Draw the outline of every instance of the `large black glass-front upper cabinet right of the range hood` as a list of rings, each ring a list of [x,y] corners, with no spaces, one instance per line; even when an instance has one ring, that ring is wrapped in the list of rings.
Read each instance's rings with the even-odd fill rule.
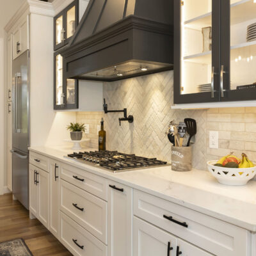
[[[256,1],[174,0],[174,103],[256,100]]]

